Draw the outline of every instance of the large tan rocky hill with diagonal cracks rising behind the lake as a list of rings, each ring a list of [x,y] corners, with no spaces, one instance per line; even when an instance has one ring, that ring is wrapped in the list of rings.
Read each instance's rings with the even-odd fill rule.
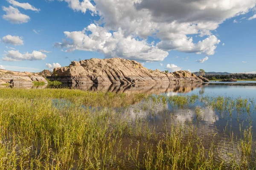
[[[67,67],[55,68],[50,80],[63,83],[177,83],[177,82],[203,82],[202,79],[189,71],[175,71],[165,73],[160,70],[150,70],[139,62],[121,59],[86,59],[73,61]]]

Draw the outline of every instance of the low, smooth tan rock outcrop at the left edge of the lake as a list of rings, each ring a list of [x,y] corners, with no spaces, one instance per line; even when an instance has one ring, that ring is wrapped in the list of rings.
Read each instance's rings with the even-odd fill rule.
[[[0,85],[10,84],[13,86],[29,86],[33,85],[34,81],[45,82],[45,84],[47,84],[47,80],[44,79],[44,77],[35,73],[0,69]]]

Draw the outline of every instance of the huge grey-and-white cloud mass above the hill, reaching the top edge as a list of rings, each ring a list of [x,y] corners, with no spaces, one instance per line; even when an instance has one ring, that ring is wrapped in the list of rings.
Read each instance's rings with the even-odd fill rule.
[[[100,51],[106,57],[143,61],[161,61],[167,54],[164,52],[171,50],[215,54],[220,40],[211,31],[227,19],[247,13],[256,3],[255,0],[243,3],[241,0],[215,0],[214,3],[209,0],[60,1],[67,2],[74,11],[85,13],[89,10],[92,14],[98,14],[100,20],[96,23],[104,25],[104,28],[98,27],[93,33],[88,27],[83,31],[65,31],[64,34],[72,42],[57,42],[55,47],[67,48],[66,51]],[[207,37],[193,42],[192,35]],[[147,42],[148,37],[159,39],[160,42],[152,46]],[[133,45],[138,45],[140,50],[132,48]],[[140,52],[139,57],[134,56]],[[148,54],[155,55],[157,59],[146,57]]]

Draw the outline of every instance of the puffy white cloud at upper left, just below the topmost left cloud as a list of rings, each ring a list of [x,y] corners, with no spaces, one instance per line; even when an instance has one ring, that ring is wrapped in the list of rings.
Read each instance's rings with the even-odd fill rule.
[[[25,14],[21,14],[17,8],[14,8],[12,6],[9,6],[9,7],[3,6],[2,8],[3,8],[3,11],[6,12],[6,15],[2,16],[4,20],[7,20],[14,24],[27,23],[30,20],[29,16]]]

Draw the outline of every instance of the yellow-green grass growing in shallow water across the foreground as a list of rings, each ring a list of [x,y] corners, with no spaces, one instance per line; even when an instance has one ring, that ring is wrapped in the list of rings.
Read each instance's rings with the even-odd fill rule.
[[[255,110],[224,96],[1,89],[0,169],[254,169]]]

